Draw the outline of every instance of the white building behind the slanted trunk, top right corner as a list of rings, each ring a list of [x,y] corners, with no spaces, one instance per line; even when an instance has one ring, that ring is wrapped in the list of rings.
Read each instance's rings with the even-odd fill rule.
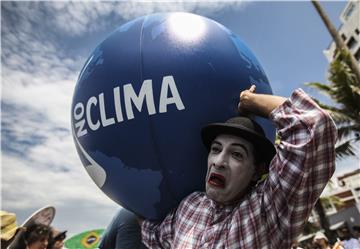
[[[340,15],[342,25],[338,33],[345,45],[360,64],[360,1],[349,1]],[[324,54],[329,62],[335,57],[335,42],[331,42]]]

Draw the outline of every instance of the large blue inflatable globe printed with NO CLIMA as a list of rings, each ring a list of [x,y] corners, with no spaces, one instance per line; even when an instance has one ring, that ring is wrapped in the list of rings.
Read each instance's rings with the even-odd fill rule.
[[[271,94],[249,48],[189,13],[124,24],[91,54],[76,84],[72,131],[80,159],[121,206],[161,219],[205,187],[201,127],[238,115],[240,91]],[[274,140],[274,128],[258,119]]]

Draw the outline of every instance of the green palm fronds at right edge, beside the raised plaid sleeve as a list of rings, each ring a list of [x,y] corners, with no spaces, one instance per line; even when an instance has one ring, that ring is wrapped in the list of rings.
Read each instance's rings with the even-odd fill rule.
[[[360,141],[360,82],[350,69],[350,57],[341,50],[330,64],[328,79],[330,84],[307,83],[328,95],[336,106],[329,106],[315,100],[333,117],[338,127],[336,157],[356,156],[355,143]]]

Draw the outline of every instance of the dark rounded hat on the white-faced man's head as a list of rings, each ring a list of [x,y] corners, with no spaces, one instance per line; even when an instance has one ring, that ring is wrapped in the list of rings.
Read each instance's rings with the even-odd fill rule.
[[[266,138],[264,130],[254,120],[244,116],[233,117],[225,123],[212,123],[204,126],[201,130],[201,138],[205,147],[210,150],[212,141],[219,134],[229,134],[244,138],[254,145],[254,149],[261,155],[266,163],[266,170],[275,156],[275,147]]]

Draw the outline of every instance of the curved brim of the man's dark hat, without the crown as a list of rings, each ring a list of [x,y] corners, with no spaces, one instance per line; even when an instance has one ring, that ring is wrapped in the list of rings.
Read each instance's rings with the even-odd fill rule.
[[[258,155],[261,155],[266,163],[266,170],[269,170],[269,164],[276,154],[276,150],[272,142],[265,136],[260,136],[252,130],[231,123],[213,123],[205,126],[201,130],[201,138],[205,147],[210,150],[211,143],[220,134],[229,134],[244,138],[254,145]]]

